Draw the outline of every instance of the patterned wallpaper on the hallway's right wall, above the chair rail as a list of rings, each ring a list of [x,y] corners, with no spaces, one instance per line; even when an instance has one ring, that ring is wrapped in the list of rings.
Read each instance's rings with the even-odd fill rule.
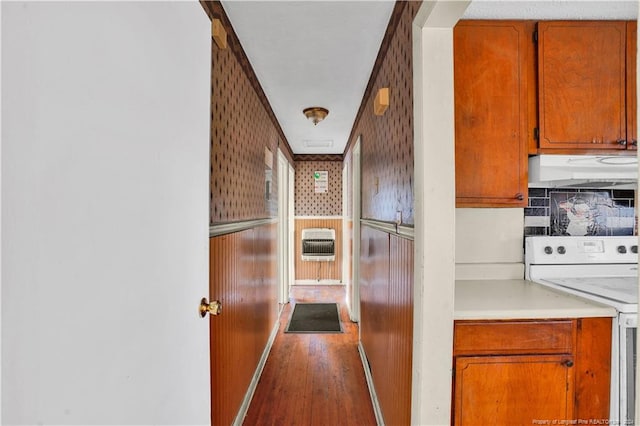
[[[362,140],[362,217],[413,224],[413,63],[412,22],[421,3],[409,1],[402,11],[386,56],[350,143]],[[373,114],[378,89],[389,87],[390,106]],[[345,156],[347,158],[347,156]]]

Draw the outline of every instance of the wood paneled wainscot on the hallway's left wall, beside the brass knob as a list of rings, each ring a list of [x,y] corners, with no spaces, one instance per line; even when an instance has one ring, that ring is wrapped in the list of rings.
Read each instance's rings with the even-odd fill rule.
[[[278,320],[276,224],[209,239],[211,421],[230,425]]]

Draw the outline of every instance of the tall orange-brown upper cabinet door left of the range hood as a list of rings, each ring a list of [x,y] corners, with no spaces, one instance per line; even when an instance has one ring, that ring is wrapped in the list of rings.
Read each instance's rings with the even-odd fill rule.
[[[532,33],[525,21],[454,29],[458,207],[526,205]]]

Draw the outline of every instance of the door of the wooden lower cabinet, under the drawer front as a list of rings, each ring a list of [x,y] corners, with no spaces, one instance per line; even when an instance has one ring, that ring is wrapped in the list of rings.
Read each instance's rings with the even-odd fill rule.
[[[456,426],[574,418],[570,355],[458,357],[455,368]]]

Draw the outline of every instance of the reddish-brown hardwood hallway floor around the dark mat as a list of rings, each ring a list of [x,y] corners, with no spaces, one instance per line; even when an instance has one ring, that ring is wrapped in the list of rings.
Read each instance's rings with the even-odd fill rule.
[[[344,286],[293,286],[244,425],[375,425]],[[344,333],[284,333],[296,302],[337,302]]]

